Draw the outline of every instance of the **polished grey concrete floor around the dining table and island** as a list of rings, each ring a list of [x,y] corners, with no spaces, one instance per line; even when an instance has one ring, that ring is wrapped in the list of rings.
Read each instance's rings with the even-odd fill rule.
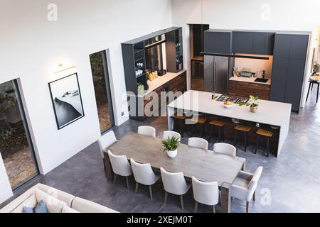
[[[257,201],[250,203],[251,212],[320,212],[320,103],[315,104],[315,92],[311,94],[300,114],[292,114],[290,130],[279,158],[265,157],[242,150],[237,155],[247,159],[247,171],[253,172],[262,165],[264,170],[257,187]],[[277,114],[275,111],[274,114]],[[161,137],[166,130],[166,118],[150,118],[145,122],[129,120],[115,127],[117,138],[130,131],[137,131],[140,125],[156,128]],[[182,142],[186,143],[187,138]],[[210,143],[210,148],[212,147]],[[161,184],[154,187],[154,199],[149,199],[147,187],[140,187],[134,194],[134,179],[130,178],[130,189],[124,179],[116,184],[105,178],[102,157],[97,143],[93,143],[71,157],[45,176],[37,177],[16,191],[16,195],[31,185],[43,182],[75,196],[95,201],[121,212],[192,212],[191,191],[185,196],[185,209],[181,210],[178,196],[169,196],[163,206],[164,192]],[[200,205],[199,212],[211,212],[209,206]],[[217,207],[220,211],[220,207]],[[232,200],[233,212],[245,212],[245,201]]]

